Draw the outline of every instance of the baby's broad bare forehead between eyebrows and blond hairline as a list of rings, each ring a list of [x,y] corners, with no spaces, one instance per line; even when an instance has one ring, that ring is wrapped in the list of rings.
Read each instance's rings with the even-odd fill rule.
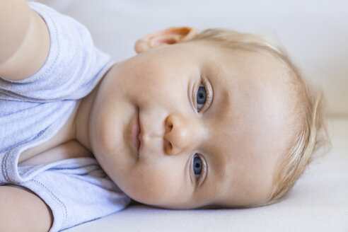
[[[220,182],[215,202],[255,204],[269,195],[288,146],[286,69],[265,54],[238,50],[220,50],[204,67],[214,88],[208,117],[216,146],[207,150]]]

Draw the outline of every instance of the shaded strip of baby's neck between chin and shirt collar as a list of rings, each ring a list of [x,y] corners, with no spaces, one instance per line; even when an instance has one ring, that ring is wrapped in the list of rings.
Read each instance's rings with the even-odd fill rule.
[[[91,152],[92,148],[89,141],[89,118],[100,83],[101,81],[97,86],[95,86],[91,93],[86,95],[86,97],[81,100],[79,108],[76,112],[76,117],[74,119],[75,140],[79,141],[81,145],[83,145],[86,149],[88,149],[88,151]]]

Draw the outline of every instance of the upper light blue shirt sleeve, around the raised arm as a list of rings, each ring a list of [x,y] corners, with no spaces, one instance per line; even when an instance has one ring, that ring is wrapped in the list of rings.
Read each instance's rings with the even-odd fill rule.
[[[32,76],[18,81],[0,79],[0,100],[50,102],[76,100],[88,95],[110,69],[110,56],[98,50],[88,29],[49,6],[29,2],[45,21],[50,52]]]

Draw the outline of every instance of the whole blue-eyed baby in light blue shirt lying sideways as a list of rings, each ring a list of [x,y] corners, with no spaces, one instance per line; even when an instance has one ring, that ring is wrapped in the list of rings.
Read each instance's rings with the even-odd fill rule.
[[[59,231],[130,199],[272,204],[325,139],[322,92],[260,35],[168,28],[115,64],[23,0],[1,1],[0,33],[0,231]]]

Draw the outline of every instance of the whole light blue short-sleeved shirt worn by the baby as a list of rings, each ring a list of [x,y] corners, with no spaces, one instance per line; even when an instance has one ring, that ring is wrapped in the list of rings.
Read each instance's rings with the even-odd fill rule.
[[[94,158],[39,166],[18,166],[18,158],[57,134],[76,100],[91,93],[113,62],[81,23],[43,4],[29,5],[47,24],[50,53],[33,76],[0,78],[0,185],[35,192],[52,210],[50,231],[60,231],[120,211],[130,199]]]

